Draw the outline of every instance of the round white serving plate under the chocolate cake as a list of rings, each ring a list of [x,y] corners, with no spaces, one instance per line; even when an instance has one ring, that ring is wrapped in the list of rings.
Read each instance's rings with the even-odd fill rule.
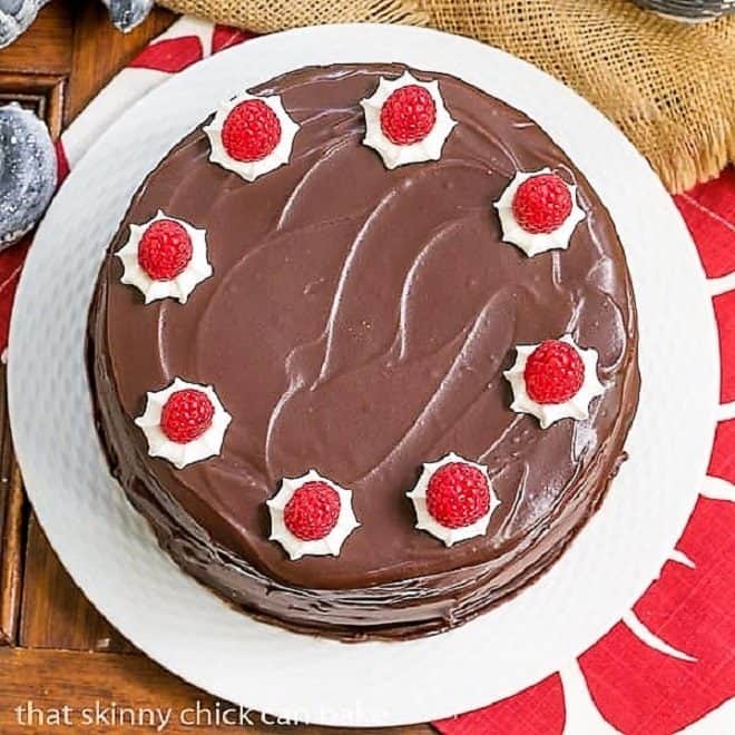
[[[527,111],[600,194],[640,313],[640,408],[600,512],[535,585],[464,627],[340,644],[231,609],[182,574],[110,478],[84,362],[105,248],[144,176],[228,95],[297,67],[403,61]],[[689,354],[687,354],[687,352]],[[74,169],[43,220],[13,311],[16,451],[46,533],[95,606],[165,667],[210,693],[326,725],[398,725],[488,705],[604,635],[658,575],[694,507],[715,428],[718,361],[695,247],[646,161],[570,89],[497,49],[431,30],[327,26],[247,41],[146,96]]]

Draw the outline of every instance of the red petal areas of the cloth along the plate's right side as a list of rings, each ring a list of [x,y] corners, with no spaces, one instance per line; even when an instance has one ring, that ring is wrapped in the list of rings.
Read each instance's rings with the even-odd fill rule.
[[[712,278],[721,398],[729,409],[735,401],[735,283],[728,278],[735,273],[735,169],[674,200]],[[733,418],[717,427],[709,478],[676,547],[684,557],[667,561],[634,606],[635,617],[665,645],[649,645],[620,621],[578,658],[592,703],[621,733],[676,733],[735,696],[735,411],[726,415]],[[551,735],[565,729],[564,702],[561,683],[550,677],[434,724],[447,735]]]

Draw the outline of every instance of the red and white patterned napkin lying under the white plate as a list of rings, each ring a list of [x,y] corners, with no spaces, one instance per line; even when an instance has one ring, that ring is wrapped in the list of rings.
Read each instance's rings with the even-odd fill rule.
[[[177,21],[63,133],[60,179],[131,102],[249,36],[190,18]],[[709,280],[722,353],[719,424],[694,513],[658,579],[607,635],[523,692],[434,723],[441,733],[735,733],[735,169],[675,203]],[[29,242],[0,255],[0,349]]]

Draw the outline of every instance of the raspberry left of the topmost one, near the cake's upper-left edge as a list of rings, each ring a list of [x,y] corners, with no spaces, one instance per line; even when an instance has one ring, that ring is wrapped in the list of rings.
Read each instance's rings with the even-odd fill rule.
[[[222,144],[236,160],[262,160],[278,145],[281,122],[261,99],[241,102],[222,126]]]

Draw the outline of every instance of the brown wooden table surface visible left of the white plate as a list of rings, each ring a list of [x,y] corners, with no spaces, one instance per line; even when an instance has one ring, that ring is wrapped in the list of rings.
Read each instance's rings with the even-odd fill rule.
[[[145,23],[122,36],[109,23],[100,2],[53,0],[20,40],[0,51],[0,98],[35,107],[58,136],[105,82],[174,19],[171,13],[156,10]],[[136,651],[91,607],[61,567],[23,493],[4,408],[4,382],[3,371],[0,374],[0,733],[155,732],[145,725],[114,725],[110,712],[97,718],[94,709],[90,716],[96,724],[87,724],[82,709],[94,708],[96,703],[100,708],[117,703],[116,712],[122,716],[127,715],[121,707],[171,708],[171,724],[165,733],[226,729],[187,727],[177,722],[197,700],[213,713],[217,703]],[[29,709],[29,703],[33,709]],[[57,727],[57,718],[63,723],[65,706],[70,707],[67,722],[74,724]],[[264,726],[256,713],[251,713],[251,719],[255,726],[249,732],[254,733],[336,732],[305,726],[286,728],[277,724]],[[206,724],[206,715],[202,722]],[[380,732],[418,735],[433,731],[421,725]]]

